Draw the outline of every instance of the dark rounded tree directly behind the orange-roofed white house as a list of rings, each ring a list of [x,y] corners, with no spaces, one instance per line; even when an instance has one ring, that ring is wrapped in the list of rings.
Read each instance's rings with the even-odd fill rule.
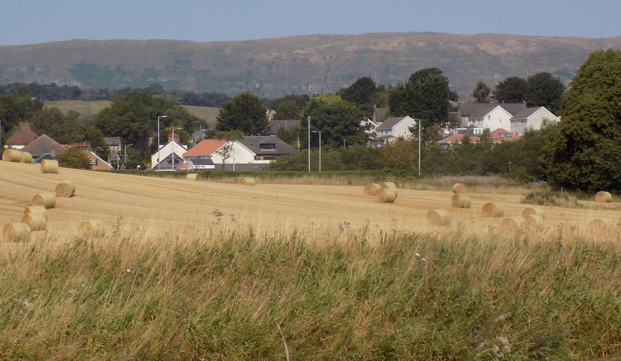
[[[270,123],[267,108],[258,96],[243,92],[227,100],[215,119],[215,129],[219,131],[239,130],[246,135],[264,135]]]

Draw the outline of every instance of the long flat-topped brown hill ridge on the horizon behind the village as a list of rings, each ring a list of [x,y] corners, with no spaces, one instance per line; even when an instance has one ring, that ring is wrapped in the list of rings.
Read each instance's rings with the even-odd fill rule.
[[[621,37],[533,37],[432,32],[302,35],[198,43],[187,40],[68,40],[0,46],[0,83],[98,88],[144,87],[265,97],[333,92],[360,76],[380,84],[435,66],[462,99],[482,79],[541,71],[573,78],[594,50],[621,49]]]

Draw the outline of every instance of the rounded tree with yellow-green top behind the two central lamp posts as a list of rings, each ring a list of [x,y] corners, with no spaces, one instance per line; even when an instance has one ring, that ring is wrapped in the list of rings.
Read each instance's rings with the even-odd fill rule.
[[[368,134],[360,128],[363,118],[360,108],[340,96],[325,94],[314,96],[304,110],[304,118],[311,117],[311,131],[321,132],[322,145],[338,148],[342,145],[366,144]],[[308,123],[301,122],[300,143],[302,148],[308,146]],[[317,135],[312,135],[313,144],[317,144]]]

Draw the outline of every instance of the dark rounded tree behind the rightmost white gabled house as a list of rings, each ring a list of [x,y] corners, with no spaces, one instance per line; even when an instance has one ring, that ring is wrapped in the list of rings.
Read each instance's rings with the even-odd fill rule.
[[[550,73],[537,73],[529,76],[526,102],[529,107],[546,107],[554,114],[559,114],[561,97],[567,87],[560,78],[554,78]]]

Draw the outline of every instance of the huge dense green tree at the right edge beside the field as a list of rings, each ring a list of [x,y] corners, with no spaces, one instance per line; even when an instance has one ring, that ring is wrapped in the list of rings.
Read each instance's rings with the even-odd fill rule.
[[[621,51],[595,51],[571,82],[544,161],[551,182],[621,192]]]

